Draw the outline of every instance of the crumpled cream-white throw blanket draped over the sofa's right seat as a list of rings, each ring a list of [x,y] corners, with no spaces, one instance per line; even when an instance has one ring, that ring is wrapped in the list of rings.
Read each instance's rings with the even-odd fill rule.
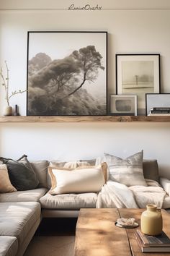
[[[166,192],[158,182],[149,179],[146,182],[148,187],[127,187],[108,180],[97,197],[97,208],[146,208],[149,203],[162,208]]]

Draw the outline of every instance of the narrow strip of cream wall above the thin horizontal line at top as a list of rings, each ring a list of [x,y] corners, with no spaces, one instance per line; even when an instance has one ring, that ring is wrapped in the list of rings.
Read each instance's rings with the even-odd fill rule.
[[[102,9],[169,9],[169,0],[1,0],[1,9],[68,9],[84,7],[86,4],[102,7]]]

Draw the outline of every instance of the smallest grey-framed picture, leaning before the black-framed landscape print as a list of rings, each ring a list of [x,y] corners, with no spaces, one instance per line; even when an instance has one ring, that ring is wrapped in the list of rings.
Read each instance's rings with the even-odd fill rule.
[[[112,116],[137,116],[137,95],[110,95]]]

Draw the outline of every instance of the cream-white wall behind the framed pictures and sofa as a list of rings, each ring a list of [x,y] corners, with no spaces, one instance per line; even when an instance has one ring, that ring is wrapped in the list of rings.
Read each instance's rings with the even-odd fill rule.
[[[22,9],[0,12],[0,63],[8,61],[12,90],[26,88],[28,30],[107,30],[108,92],[115,93],[116,53],[160,53],[161,92],[170,93],[170,10],[165,9],[169,1],[162,6],[154,1],[156,8],[153,1],[147,1],[150,10],[141,6],[142,10],[125,10],[123,5],[114,10],[111,0],[99,1],[103,10],[95,12],[68,11],[68,1],[58,7],[62,10],[23,10],[22,5],[6,2],[1,1],[1,9]],[[130,2],[136,4],[136,0]],[[38,6],[26,6],[33,7]],[[14,96],[11,102],[19,105],[20,114],[26,114],[26,94]],[[1,90],[0,114],[4,104]],[[19,158],[26,153],[32,160],[68,160],[95,158],[104,152],[126,157],[143,149],[144,157],[158,159],[161,174],[170,178],[169,145],[170,122],[0,124],[0,155],[4,157]]]

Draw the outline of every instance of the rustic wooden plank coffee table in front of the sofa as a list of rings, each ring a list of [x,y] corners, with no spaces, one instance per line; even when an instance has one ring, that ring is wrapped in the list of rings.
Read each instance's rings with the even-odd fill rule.
[[[135,218],[140,224],[145,209],[81,209],[76,225],[74,256],[161,256],[170,253],[143,253],[134,232],[140,229],[122,229],[115,226],[117,218]],[[164,231],[170,237],[170,215],[161,210]]]

